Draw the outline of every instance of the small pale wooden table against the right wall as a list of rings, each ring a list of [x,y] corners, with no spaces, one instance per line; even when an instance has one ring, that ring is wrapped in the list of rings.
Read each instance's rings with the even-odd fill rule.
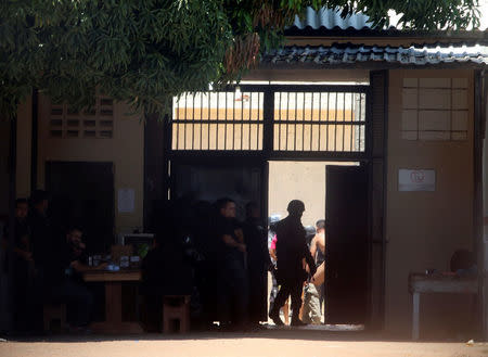
[[[441,273],[410,273],[409,291],[413,298],[412,340],[419,340],[420,294],[477,294],[478,280],[476,277],[444,276]]]

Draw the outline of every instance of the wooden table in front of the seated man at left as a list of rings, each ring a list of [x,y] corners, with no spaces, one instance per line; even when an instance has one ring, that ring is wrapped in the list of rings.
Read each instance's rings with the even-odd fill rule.
[[[103,282],[105,284],[105,321],[93,322],[91,329],[100,333],[142,333],[142,327],[137,321],[121,320],[121,285],[124,282],[141,280],[140,270],[88,271],[84,273],[87,282]]]

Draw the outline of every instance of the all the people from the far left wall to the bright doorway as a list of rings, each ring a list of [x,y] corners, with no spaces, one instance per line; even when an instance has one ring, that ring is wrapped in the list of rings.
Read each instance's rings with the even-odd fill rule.
[[[66,304],[69,329],[86,331],[92,318],[93,294],[84,283],[82,273],[105,269],[106,264],[89,266],[82,229],[70,226],[62,231],[50,221],[48,206],[44,191],[35,191],[30,200],[16,201],[15,241],[10,256],[15,330],[41,331],[42,306],[54,302]],[[323,291],[308,282],[323,262],[324,227],[319,221],[317,234],[307,242],[300,221],[303,202],[292,201],[288,216],[273,227],[272,250],[268,248],[268,227],[260,221],[259,205],[254,202],[245,206],[244,221],[237,220],[236,204],[227,197],[213,205],[198,202],[192,206],[192,214],[181,208],[188,205],[178,206],[177,202],[162,215],[165,218],[156,231],[155,246],[142,263],[141,293],[150,309],[160,309],[162,295],[191,295],[193,315],[201,321],[218,320],[221,328],[230,330],[259,328],[267,319],[269,270],[277,281],[269,311],[274,323],[283,324],[279,311],[288,296],[292,326],[317,322],[317,316],[320,321],[317,307],[321,304],[317,299],[322,298]],[[11,244],[9,230],[7,227],[2,240],[3,252]]]

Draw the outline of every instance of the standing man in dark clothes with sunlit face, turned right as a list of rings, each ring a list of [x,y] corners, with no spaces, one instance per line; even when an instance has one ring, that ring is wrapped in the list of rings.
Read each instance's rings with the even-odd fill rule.
[[[247,276],[245,271],[244,235],[235,219],[235,203],[230,199],[217,201],[217,240],[220,242],[221,276],[219,308],[222,324],[243,328],[247,315]]]

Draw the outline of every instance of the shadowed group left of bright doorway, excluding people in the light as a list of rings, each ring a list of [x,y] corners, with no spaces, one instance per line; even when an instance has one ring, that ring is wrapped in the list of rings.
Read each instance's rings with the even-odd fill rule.
[[[220,329],[241,330],[266,319],[268,229],[256,203],[248,203],[245,214],[237,220],[236,204],[228,197],[182,199],[159,213],[155,247],[142,264],[150,317],[160,316],[162,296],[184,294],[192,297],[194,327],[219,321]]]

